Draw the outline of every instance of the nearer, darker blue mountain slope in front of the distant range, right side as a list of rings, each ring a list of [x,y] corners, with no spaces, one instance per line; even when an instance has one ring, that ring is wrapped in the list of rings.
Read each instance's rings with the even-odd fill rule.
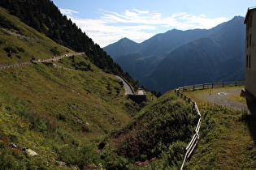
[[[141,84],[164,92],[195,83],[244,80],[245,26],[242,22],[242,17],[235,17],[211,36],[175,49],[150,76],[141,79]]]

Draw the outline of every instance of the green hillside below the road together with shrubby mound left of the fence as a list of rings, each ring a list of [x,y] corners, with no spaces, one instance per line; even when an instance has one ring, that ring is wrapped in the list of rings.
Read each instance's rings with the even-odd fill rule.
[[[0,165],[7,169],[180,167],[197,123],[193,104],[170,92],[114,130],[131,119],[131,108],[139,109],[115,76],[40,63],[0,74]],[[111,137],[100,142],[109,132]],[[8,147],[10,142],[19,147]],[[101,155],[98,143],[106,145]]]

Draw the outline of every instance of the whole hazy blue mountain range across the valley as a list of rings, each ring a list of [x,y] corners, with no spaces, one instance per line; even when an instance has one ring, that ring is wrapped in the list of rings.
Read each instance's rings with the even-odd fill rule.
[[[142,43],[123,38],[104,50],[150,90],[244,80],[243,21],[244,17],[235,16],[211,29],[172,29]]]

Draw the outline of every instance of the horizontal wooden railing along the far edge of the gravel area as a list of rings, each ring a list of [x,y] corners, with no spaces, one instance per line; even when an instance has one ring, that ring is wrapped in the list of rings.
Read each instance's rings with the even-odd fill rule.
[[[245,82],[236,81],[236,82],[202,83],[202,84],[194,84],[190,86],[179,87],[177,89],[179,91],[195,91],[200,89],[213,88],[213,87],[225,87],[230,85],[232,86],[245,85]]]

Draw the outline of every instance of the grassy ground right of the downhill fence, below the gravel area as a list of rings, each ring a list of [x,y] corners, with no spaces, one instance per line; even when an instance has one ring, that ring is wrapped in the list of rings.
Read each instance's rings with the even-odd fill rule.
[[[253,141],[256,133],[255,128],[252,128],[256,122],[255,117],[245,112],[206,104],[202,98],[197,99],[198,93],[202,92],[185,93],[193,100],[198,100],[202,113],[201,139],[186,168],[255,168],[256,147]],[[233,96],[231,100],[244,103],[238,96]]]

